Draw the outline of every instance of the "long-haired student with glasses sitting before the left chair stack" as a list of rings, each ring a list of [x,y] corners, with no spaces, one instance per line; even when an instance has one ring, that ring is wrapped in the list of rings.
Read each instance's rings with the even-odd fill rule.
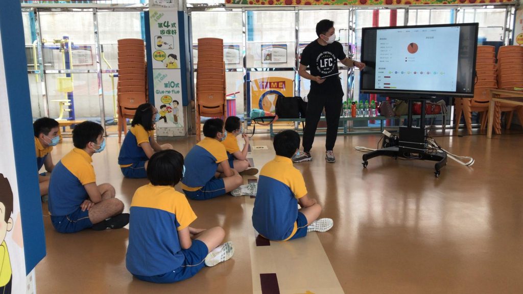
[[[154,152],[173,149],[170,144],[158,145],[154,139],[154,125],[160,113],[150,104],[144,103],[134,113],[131,129],[123,139],[118,164],[124,177],[147,178],[147,161]]]

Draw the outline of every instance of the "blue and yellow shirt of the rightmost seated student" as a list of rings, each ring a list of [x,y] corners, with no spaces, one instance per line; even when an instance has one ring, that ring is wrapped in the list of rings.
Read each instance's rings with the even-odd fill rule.
[[[303,175],[292,160],[276,156],[260,171],[253,226],[270,240],[288,240],[298,230],[298,199],[307,194]]]

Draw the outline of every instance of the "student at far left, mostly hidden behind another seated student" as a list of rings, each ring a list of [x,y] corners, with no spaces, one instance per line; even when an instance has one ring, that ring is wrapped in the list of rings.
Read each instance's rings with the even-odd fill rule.
[[[56,146],[60,142],[59,131],[58,122],[49,117],[42,117],[33,123],[38,172],[42,166],[46,167],[48,173],[53,171],[54,163],[51,157],[51,150],[53,150],[53,146]],[[38,175],[40,196],[43,202],[47,202],[46,195],[49,192],[49,180],[51,180],[50,174],[43,172]]]

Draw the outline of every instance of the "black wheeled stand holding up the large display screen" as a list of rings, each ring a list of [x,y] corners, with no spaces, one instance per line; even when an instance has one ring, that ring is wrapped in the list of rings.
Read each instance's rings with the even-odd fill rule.
[[[440,169],[447,164],[447,153],[444,151],[428,150],[425,144],[425,105],[429,98],[402,98],[408,100],[407,126],[400,126],[399,146],[386,147],[363,154],[363,168],[367,168],[369,159],[378,156],[390,156],[408,159],[437,161],[434,164],[434,175],[439,177]],[[422,102],[422,114],[419,127],[412,125],[412,102]]]

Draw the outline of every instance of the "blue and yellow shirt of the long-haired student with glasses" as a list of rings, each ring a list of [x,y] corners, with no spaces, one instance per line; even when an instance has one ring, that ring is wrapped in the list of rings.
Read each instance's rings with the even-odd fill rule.
[[[139,124],[132,126],[123,139],[122,147],[120,147],[120,155],[118,156],[120,167],[126,168],[132,166],[133,163],[149,160],[149,157],[145,155],[139,145],[144,142],[151,143],[153,136],[154,130],[145,131],[145,128]]]

